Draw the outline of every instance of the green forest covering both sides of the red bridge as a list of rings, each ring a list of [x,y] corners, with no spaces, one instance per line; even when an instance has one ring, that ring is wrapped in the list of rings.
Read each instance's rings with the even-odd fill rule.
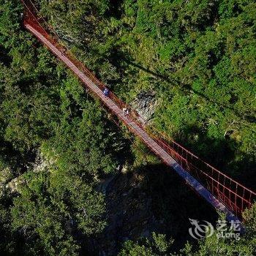
[[[149,126],[256,189],[255,1],[34,3],[61,42],[124,102],[154,94]],[[189,217],[223,216],[116,126],[26,31],[23,13],[19,0],[0,0],[0,255],[256,255],[256,204],[244,211],[240,240],[189,238]],[[109,195],[99,189],[108,178],[125,179],[133,190],[113,185]],[[103,252],[125,228],[110,230],[110,212],[129,208],[110,200],[130,191],[138,201],[149,198],[154,225]],[[130,211],[140,208],[136,202]]]

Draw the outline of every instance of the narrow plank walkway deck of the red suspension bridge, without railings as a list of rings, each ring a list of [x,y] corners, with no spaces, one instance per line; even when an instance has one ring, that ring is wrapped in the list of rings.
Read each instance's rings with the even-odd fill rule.
[[[113,100],[111,100],[108,97],[105,97],[102,94],[102,90],[99,89],[99,87],[92,81],[88,76],[86,76],[83,71],[81,71],[78,67],[76,67],[75,63],[73,63],[64,53],[61,53],[61,50],[56,48],[55,45],[53,45],[52,42],[46,37],[44,37],[42,34],[40,34],[39,31],[37,31],[36,28],[30,23],[25,23],[26,29],[31,31],[32,34],[34,34],[45,46],[47,46],[64,64],[71,69],[75,75],[80,78],[80,80],[83,81],[85,86],[89,88],[91,91],[94,92],[97,97],[104,102],[104,104],[113,112],[116,114],[116,116],[127,125],[129,130],[133,132],[136,136],[138,136],[143,142],[148,146],[148,148],[151,149],[151,151],[154,152],[154,154],[157,154],[157,156],[162,159],[163,162],[165,162],[166,165],[173,168],[173,170],[178,173],[181,178],[183,178],[187,184],[189,184],[192,189],[194,189],[199,195],[201,195],[208,203],[211,204],[211,206],[214,206],[214,208],[217,209],[217,211],[222,211],[225,214],[227,214],[227,219],[231,220],[238,220],[238,218],[222,203],[220,202],[217,197],[214,197],[214,195],[211,194],[211,192],[208,191],[205,187],[203,187],[202,184],[200,184],[193,176],[191,176],[187,170],[184,170],[181,165],[178,165],[175,159],[170,156],[170,154],[165,151],[162,146],[159,145],[153,138],[151,138],[148,133],[142,129],[135,121],[132,121],[132,119],[128,118],[127,116],[124,116],[123,111],[121,108],[116,105]]]

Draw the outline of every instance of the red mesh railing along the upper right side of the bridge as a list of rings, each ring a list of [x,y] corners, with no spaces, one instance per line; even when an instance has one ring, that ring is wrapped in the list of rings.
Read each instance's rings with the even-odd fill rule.
[[[98,87],[103,90],[107,86],[99,81],[96,76],[87,69],[84,64],[75,58],[75,56],[68,50],[68,48],[61,44],[58,35],[48,25],[46,20],[38,14],[37,7],[34,6],[31,0],[21,0],[26,7],[25,23],[31,24],[40,34],[47,38],[53,45],[58,48],[64,56],[72,61],[80,71],[83,71]],[[39,15],[39,16],[38,16]],[[44,26],[42,26],[44,24]],[[113,92],[110,91],[110,99],[119,106],[119,108],[129,108],[121,99],[116,97]],[[184,170],[187,170],[192,176],[198,179],[200,183],[208,189],[212,195],[217,197],[218,200],[227,206],[234,214],[241,217],[242,211],[245,208],[252,206],[254,200],[256,200],[256,193],[247,189],[243,185],[234,181],[232,178],[221,173],[216,168],[208,165],[199,157],[192,154],[183,146],[176,143],[171,138],[167,138],[168,143],[163,140],[165,138],[156,129],[152,127],[145,127],[146,121],[137,113],[137,111],[130,109],[129,118],[132,118],[142,129],[146,129],[146,132],[150,132],[154,140],[159,143],[162,148],[170,154],[173,159],[178,162]]]

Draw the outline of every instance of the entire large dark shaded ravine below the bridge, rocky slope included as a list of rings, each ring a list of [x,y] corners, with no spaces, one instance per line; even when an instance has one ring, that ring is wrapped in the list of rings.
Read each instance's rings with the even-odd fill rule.
[[[108,225],[95,239],[97,253],[116,255],[127,240],[164,233],[181,249],[189,236],[189,218],[217,220],[214,208],[165,165],[146,165],[135,173],[119,173],[105,189]],[[195,242],[195,240],[194,240]]]

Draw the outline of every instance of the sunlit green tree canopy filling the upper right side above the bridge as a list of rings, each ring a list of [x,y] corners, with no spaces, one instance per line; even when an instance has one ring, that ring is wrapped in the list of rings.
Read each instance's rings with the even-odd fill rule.
[[[157,93],[157,129],[233,176],[253,173],[253,1],[37,3],[120,97],[130,102],[139,91]]]

